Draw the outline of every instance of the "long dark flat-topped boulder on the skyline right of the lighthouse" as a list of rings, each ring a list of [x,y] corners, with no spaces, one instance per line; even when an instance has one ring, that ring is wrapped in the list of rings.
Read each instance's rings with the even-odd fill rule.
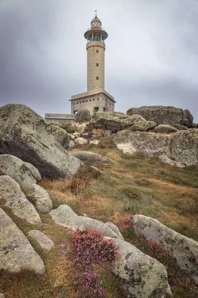
[[[154,121],[160,124],[181,124],[187,127],[193,127],[193,116],[189,110],[182,110],[171,106],[143,106],[131,108],[127,115],[138,114],[148,121]]]

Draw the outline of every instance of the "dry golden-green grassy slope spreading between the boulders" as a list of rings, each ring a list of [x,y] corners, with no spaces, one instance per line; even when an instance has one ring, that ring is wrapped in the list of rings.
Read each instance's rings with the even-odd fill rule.
[[[78,215],[86,214],[104,223],[117,224],[123,235],[124,221],[131,215],[143,214],[198,240],[198,167],[177,168],[156,158],[145,158],[140,153],[128,155],[116,149],[81,149],[99,153],[110,163],[101,166],[102,175],[89,172],[88,163],[77,177],[41,181],[40,185],[51,195],[54,208],[67,204]],[[124,187],[138,188],[141,198],[129,199],[121,191]],[[4,209],[3,206],[0,208]],[[70,257],[70,232],[54,224],[49,215],[41,216],[44,224],[31,225],[9,211],[8,214],[26,236],[30,229],[40,229],[54,241],[55,248],[49,253],[44,252],[27,236],[43,258],[46,274],[43,278],[25,273],[17,276],[1,274],[0,292],[3,291],[7,298],[77,297],[71,287],[74,269]],[[102,271],[101,281],[106,297],[107,293],[112,294],[112,298],[126,297],[117,289],[109,269]],[[173,286],[173,290],[177,298],[196,297],[194,292],[182,289],[180,284]]]

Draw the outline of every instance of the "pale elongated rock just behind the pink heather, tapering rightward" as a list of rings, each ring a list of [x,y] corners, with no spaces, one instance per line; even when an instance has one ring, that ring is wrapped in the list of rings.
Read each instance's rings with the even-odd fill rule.
[[[67,205],[60,205],[57,209],[50,211],[49,214],[54,223],[67,227],[72,231],[75,231],[77,227],[80,229],[93,228],[103,235],[106,234],[112,238],[119,238],[119,236],[104,223],[88,217],[77,216]]]

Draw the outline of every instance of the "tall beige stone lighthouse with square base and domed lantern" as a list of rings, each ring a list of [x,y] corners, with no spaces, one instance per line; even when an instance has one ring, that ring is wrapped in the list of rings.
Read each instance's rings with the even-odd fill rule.
[[[91,115],[98,111],[113,112],[115,100],[104,90],[104,40],[108,34],[97,13],[84,37],[87,40],[87,92],[71,96],[71,113],[83,109],[88,109]]]

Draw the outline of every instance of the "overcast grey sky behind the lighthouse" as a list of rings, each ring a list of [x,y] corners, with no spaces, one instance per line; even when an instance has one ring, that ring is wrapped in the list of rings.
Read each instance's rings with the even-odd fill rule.
[[[172,105],[198,123],[197,0],[0,0],[0,105],[71,113],[68,99],[87,91],[84,33],[96,9],[115,110]]]

